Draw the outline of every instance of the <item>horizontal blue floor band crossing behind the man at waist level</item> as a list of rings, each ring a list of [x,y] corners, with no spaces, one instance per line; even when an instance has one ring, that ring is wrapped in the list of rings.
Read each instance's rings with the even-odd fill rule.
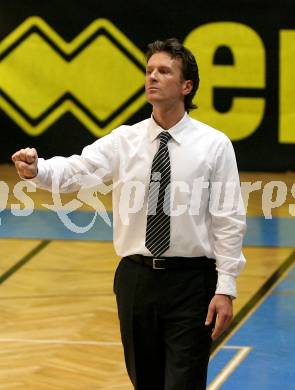
[[[110,222],[112,213],[108,213]],[[93,212],[73,211],[63,214],[62,222],[57,213],[46,210],[34,210],[28,216],[14,216],[11,210],[0,212],[0,237],[36,238],[48,240],[95,240],[111,241],[112,226],[109,226],[100,215]],[[90,228],[91,222],[93,226]],[[294,247],[295,218],[263,217],[247,218],[247,234],[244,245],[251,246],[284,246]],[[84,233],[77,231],[84,230]]]

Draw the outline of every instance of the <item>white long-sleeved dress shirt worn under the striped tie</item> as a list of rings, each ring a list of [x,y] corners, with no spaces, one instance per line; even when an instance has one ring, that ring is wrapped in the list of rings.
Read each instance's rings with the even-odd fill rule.
[[[151,256],[145,247],[147,198],[153,157],[163,129],[153,117],[120,126],[86,146],[81,156],[42,158],[38,187],[52,190],[53,177],[63,191],[83,186],[73,177],[112,180],[113,236],[119,256]],[[241,252],[246,230],[240,182],[230,140],[187,114],[168,130],[171,160],[171,239],[164,257],[207,256],[216,259],[216,293],[235,297],[235,279],[244,266]],[[185,260],[183,260],[185,261]],[[196,260],[198,261],[198,260]]]

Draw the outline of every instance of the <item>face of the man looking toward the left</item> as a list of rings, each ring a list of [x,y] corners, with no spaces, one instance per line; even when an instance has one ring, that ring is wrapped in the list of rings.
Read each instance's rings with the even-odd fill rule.
[[[173,106],[184,101],[187,81],[182,78],[181,59],[166,52],[151,56],[146,67],[145,91],[152,105]]]

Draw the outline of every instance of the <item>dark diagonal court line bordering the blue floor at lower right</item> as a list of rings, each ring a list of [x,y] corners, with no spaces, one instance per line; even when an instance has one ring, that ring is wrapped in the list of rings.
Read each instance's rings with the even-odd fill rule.
[[[281,278],[284,273],[292,267],[295,263],[295,250],[289,257],[273,272],[273,274],[266,280],[260,289],[249,299],[249,301],[238,311],[234,316],[229,328],[212,343],[211,354],[224,342],[224,340],[234,332],[237,326],[245,319],[250,311],[258,306],[259,302],[272,289],[274,284]]]

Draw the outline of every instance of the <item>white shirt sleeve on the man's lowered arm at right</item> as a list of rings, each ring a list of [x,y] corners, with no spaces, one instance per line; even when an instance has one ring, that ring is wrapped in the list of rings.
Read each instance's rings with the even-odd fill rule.
[[[227,138],[216,153],[210,186],[209,212],[218,271],[216,294],[234,298],[237,296],[236,277],[246,262],[241,250],[246,231],[246,215],[236,157]]]

